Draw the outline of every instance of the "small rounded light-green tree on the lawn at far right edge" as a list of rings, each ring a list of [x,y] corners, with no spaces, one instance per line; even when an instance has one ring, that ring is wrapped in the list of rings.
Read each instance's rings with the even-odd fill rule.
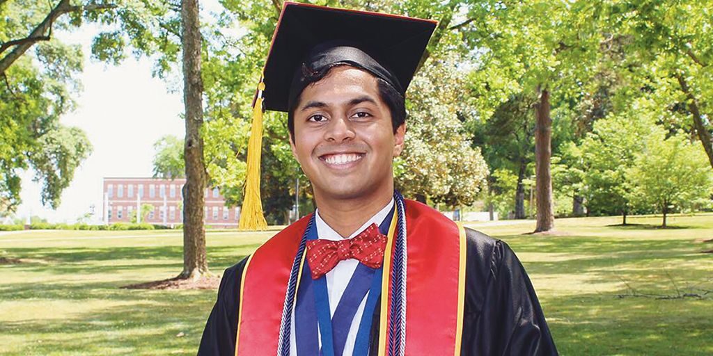
[[[632,198],[661,212],[662,227],[667,226],[666,216],[673,209],[686,208],[713,194],[713,172],[704,150],[692,145],[686,135],[666,138],[666,133],[662,127],[654,127],[628,170],[636,182]]]

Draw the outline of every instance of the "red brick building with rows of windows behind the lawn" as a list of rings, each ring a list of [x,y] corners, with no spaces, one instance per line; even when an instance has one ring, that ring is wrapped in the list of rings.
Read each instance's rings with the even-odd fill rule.
[[[103,221],[112,224],[129,222],[144,204],[153,205],[141,222],[175,226],[183,224],[183,184],[185,178],[104,178]],[[205,189],[204,219],[206,226],[235,228],[240,208],[225,206],[225,198],[217,188]]]

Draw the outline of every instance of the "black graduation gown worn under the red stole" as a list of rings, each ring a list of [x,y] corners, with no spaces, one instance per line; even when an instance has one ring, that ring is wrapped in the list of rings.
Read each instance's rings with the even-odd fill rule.
[[[471,229],[466,229],[466,244],[461,355],[557,355],[530,278],[511,248]],[[246,261],[225,270],[198,355],[235,355],[240,277]],[[374,309],[369,355],[378,354],[379,308]]]

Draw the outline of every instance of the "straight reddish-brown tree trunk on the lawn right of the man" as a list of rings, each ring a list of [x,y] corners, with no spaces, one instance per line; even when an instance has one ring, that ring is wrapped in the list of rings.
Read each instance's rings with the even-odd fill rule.
[[[552,199],[552,174],[550,157],[552,149],[552,119],[550,118],[550,92],[542,90],[540,103],[535,105],[535,199],[537,199],[537,226],[535,232],[550,231],[555,227]]]

